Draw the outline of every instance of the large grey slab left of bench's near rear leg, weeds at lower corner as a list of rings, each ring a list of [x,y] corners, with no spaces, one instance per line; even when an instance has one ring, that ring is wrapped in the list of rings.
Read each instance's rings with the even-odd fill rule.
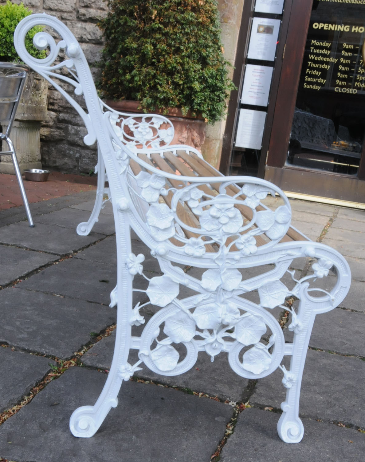
[[[80,299],[8,288],[1,291],[0,341],[69,358],[116,320],[116,310]]]

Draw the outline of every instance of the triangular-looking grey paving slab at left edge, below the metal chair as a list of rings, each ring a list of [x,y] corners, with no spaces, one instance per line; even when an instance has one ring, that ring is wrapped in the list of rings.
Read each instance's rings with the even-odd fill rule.
[[[0,286],[5,286],[51,261],[59,255],[0,245]]]

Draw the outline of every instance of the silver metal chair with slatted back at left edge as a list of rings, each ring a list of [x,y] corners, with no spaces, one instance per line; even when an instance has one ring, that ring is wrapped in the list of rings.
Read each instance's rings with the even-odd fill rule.
[[[0,63],[0,124],[7,125],[5,133],[0,133],[0,140],[5,141],[9,148],[8,151],[0,151],[0,156],[12,156],[12,163],[14,165],[15,175],[17,176],[20,193],[23,198],[29,226],[33,228],[34,223],[19,169],[17,155],[12,140],[9,138],[28,72],[29,68],[24,65],[8,62]]]

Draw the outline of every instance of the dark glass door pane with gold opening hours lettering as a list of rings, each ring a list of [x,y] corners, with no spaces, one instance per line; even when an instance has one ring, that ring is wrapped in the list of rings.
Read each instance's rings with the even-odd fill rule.
[[[365,133],[365,2],[313,1],[287,164],[357,176]]]

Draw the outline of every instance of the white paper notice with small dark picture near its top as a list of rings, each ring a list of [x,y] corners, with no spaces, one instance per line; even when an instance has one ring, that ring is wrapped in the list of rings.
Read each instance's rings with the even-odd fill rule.
[[[253,18],[247,58],[274,61],[280,19]]]

